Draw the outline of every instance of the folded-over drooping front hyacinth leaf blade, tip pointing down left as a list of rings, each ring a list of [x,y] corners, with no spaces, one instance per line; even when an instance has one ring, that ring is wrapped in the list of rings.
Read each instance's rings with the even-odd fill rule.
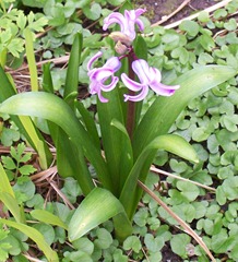
[[[69,239],[74,241],[94,227],[122,213],[123,207],[109,191],[95,188],[81,203],[69,224]]]

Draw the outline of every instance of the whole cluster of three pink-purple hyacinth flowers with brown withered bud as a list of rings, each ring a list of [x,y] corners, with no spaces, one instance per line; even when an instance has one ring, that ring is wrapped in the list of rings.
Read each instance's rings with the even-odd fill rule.
[[[124,102],[143,100],[150,88],[162,96],[170,96],[179,88],[179,85],[169,86],[162,84],[159,70],[150,67],[144,59],[138,59],[133,51],[132,43],[136,37],[135,25],[140,32],[144,31],[144,24],[139,16],[145,11],[145,9],[126,10],[124,15],[114,12],[104,20],[104,31],[108,29],[112,24],[119,24],[120,26],[120,32],[111,33],[110,37],[116,41],[115,49],[121,56],[109,58],[102,68],[93,68],[94,62],[103,56],[103,52],[98,51],[87,63],[90,93],[97,94],[102,103],[108,102],[103,96],[103,92],[110,92],[117,86],[119,78],[115,73],[120,70],[121,59],[126,57],[130,57],[130,67],[138,75],[140,82],[136,82],[134,78],[129,78],[126,73],[121,73],[120,79],[129,90],[129,94],[124,94]]]

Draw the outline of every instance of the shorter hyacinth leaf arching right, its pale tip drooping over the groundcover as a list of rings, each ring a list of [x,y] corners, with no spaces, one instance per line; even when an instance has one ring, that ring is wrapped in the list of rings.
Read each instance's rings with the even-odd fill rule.
[[[142,190],[136,187],[138,179],[143,182],[145,181],[147,171],[144,171],[144,166],[147,168],[147,158],[150,157],[151,152],[157,150],[166,150],[187,160],[198,163],[198,157],[194,148],[183,138],[176,134],[164,134],[154,139],[144,148],[135,162],[120,195],[120,201],[123,204],[130,219],[133,217],[142,193]]]

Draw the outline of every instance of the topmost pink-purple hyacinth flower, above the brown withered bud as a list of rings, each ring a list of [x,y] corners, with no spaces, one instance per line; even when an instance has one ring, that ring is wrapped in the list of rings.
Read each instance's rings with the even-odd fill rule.
[[[133,40],[135,38],[135,24],[139,26],[140,31],[144,29],[144,24],[139,16],[145,11],[145,9],[126,10],[124,15],[119,12],[114,12],[104,20],[103,29],[106,31],[111,24],[119,24],[121,33]]]

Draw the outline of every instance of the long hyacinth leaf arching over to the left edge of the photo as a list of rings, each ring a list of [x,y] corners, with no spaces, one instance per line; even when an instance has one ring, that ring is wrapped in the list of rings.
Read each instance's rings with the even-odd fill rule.
[[[84,151],[85,156],[95,167],[99,180],[107,189],[111,188],[105,160],[74,116],[71,108],[59,97],[45,92],[22,93],[10,97],[0,106],[0,111],[10,115],[39,117],[58,124],[69,135],[75,146]]]

